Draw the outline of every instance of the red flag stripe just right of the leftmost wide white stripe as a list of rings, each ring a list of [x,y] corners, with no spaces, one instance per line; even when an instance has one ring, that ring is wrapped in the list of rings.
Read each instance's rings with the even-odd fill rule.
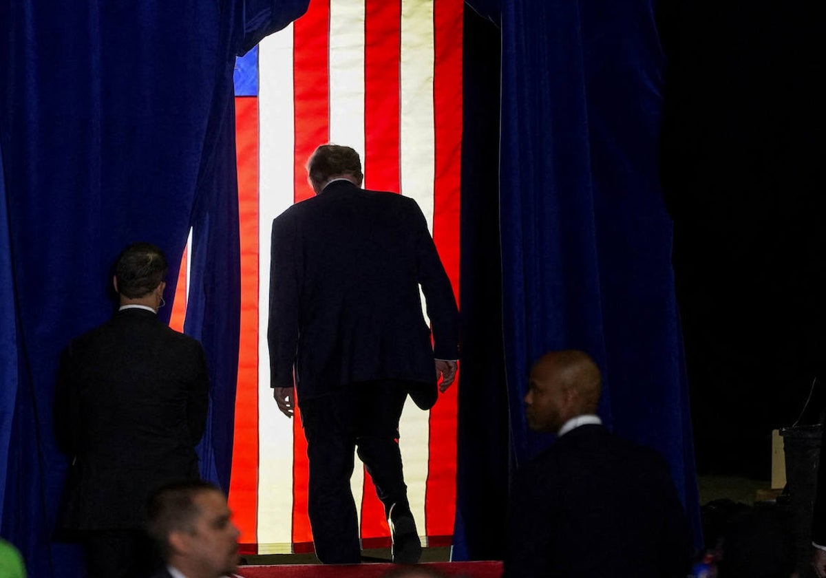
[[[311,0],[293,28],[292,83],[295,114],[294,200],[313,195],[306,181],[306,160],[330,140],[330,0]],[[292,542],[310,542],[307,519],[309,468],[301,412],[292,424]]]

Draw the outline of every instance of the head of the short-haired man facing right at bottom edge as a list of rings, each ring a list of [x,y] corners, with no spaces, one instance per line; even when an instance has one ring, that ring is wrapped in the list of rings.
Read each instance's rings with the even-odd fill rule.
[[[166,568],[153,578],[218,578],[238,568],[240,532],[226,496],[206,481],[183,481],[156,490],[149,531]]]

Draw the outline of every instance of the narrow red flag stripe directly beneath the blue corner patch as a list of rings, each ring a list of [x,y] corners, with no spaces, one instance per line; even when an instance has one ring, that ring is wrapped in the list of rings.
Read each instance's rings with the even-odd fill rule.
[[[255,544],[258,512],[259,343],[259,107],[255,97],[235,98],[241,249],[241,317],[235,440],[230,509],[240,542]]]

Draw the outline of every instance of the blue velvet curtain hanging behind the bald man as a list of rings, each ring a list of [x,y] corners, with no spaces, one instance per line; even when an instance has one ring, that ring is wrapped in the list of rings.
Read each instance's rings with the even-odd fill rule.
[[[699,545],[672,222],[658,181],[666,61],[655,2],[468,4],[501,26],[502,324],[514,462],[551,441],[525,424],[530,365],[552,349],[584,349],[603,372],[602,418],[667,458]]]

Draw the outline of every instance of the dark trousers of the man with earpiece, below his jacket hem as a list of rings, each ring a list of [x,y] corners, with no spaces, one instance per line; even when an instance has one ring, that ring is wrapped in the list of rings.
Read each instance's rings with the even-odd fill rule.
[[[89,578],[146,578],[164,565],[142,530],[90,530],[83,549]]]

